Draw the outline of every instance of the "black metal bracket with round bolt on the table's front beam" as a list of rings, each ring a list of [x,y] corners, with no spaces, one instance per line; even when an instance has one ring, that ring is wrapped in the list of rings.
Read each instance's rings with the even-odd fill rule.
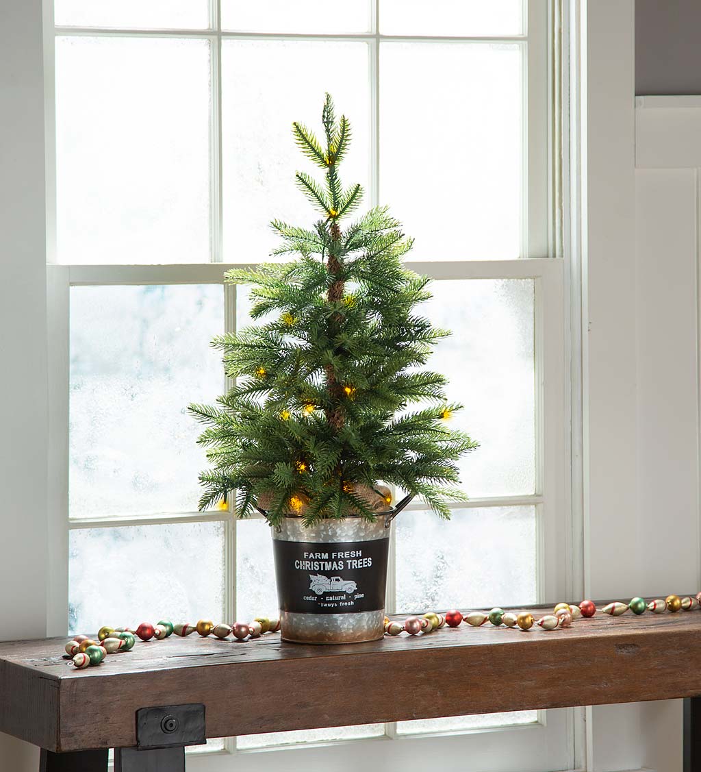
[[[136,711],[136,745],[140,749],[204,745],[204,705],[166,705]]]

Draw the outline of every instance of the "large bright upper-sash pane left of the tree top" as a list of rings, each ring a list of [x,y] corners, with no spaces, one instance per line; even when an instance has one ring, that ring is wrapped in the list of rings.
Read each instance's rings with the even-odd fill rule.
[[[59,262],[210,259],[210,51],[56,39]]]

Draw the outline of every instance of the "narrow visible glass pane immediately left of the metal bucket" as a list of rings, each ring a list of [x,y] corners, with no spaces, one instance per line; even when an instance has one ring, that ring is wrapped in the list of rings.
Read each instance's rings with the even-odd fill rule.
[[[278,616],[272,538],[265,520],[236,524],[236,618]]]

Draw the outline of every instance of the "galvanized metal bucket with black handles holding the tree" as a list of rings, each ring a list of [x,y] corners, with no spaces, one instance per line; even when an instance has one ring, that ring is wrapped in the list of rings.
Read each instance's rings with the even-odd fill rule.
[[[389,534],[412,498],[377,513],[374,523],[349,516],[305,527],[301,517],[288,516],[271,529],[282,640],[328,644],[383,637]]]

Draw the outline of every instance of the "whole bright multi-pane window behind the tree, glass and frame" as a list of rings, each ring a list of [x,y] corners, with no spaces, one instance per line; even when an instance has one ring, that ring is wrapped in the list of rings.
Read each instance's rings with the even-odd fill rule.
[[[223,285],[226,267],[268,259],[272,217],[310,222],[289,126],[312,123],[327,90],[355,128],[345,179],[362,182],[367,204],[391,205],[416,236],[411,267],[436,279],[426,310],[454,334],[433,367],[466,405],[453,420],[481,442],[463,462],[472,500],[456,504],[452,523],[420,503],[396,520],[387,608],[507,606],[564,591],[548,8],[55,0],[49,320],[62,396],[51,442],[69,581],[59,565],[54,592],[70,631],[276,608],[265,522],[197,512],[206,464],[185,408],[225,388],[208,341],[247,319],[246,293]],[[95,577],[110,566],[120,582],[98,594]],[[469,747],[482,767],[517,769],[518,750],[540,759],[534,769],[562,769],[570,721],[566,711],[453,717],[211,746],[278,747],[285,768],[290,753],[309,764],[325,753],[290,745],[354,740],[356,761],[409,763],[415,743],[436,753],[433,736],[447,734],[442,753]],[[500,750],[473,731],[484,728],[500,733]],[[396,742],[374,743],[387,737]]]

